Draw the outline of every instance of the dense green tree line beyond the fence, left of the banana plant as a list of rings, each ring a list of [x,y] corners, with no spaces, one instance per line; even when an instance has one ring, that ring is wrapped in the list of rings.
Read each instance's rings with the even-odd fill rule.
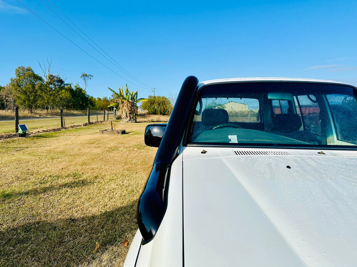
[[[40,65],[41,66],[41,65]],[[58,110],[60,108],[83,110],[105,109],[110,100],[94,98],[77,83],[66,83],[59,73],[51,71],[51,62],[44,65],[43,75],[36,74],[31,67],[15,69],[15,77],[4,87],[0,86],[0,109],[14,111],[15,106],[32,113],[34,110]],[[82,73],[85,88],[93,76]]]

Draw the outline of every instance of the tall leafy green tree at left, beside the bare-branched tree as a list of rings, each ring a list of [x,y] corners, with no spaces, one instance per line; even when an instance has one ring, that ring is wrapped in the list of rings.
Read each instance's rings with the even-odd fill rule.
[[[15,78],[10,79],[10,86],[18,92],[16,102],[23,109],[27,109],[32,113],[32,110],[37,107],[39,99],[36,86],[39,82],[43,82],[43,79],[31,67],[17,67],[15,75]]]

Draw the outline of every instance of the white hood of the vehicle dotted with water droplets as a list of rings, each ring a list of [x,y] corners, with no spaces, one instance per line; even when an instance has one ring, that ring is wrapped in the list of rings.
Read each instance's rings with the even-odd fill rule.
[[[356,266],[356,153],[244,151],[184,149],[185,267]]]

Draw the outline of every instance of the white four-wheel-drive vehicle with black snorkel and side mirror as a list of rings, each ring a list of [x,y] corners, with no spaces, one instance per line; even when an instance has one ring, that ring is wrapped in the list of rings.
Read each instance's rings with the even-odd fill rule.
[[[357,266],[357,88],[187,77],[125,267]],[[164,134],[165,132],[165,134]]]

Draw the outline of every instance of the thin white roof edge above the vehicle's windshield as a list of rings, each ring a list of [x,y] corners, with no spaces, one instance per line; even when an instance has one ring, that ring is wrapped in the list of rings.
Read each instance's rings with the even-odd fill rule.
[[[283,78],[283,77],[247,77],[247,78],[228,78],[228,79],[215,79],[215,80],[207,80],[200,82],[198,84],[198,88],[201,88],[206,84],[213,83],[232,83],[232,82],[315,82],[315,83],[336,83],[336,84],[346,84],[343,82],[336,82],[331,80],[321,80],[321,79],[306,79],[306,78]],[[351,85],[353,86],[353,85]]]

